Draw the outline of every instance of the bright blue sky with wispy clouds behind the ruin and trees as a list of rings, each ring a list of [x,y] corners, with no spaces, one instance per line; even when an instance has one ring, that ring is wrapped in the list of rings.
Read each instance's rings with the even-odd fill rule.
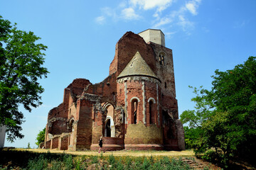
[[[36,147],[48,111],[63,101],[73,79],[105,79],[115,45],[127,31],[161,29],[173,50],[178,112],[193,109],[188,86],[211,87],[215,69],[225,71],[256,56],[255,0],[0,0],[0,15],[31,30],[48,46],[40,83],[43,105],[23,111],[22,140],[6,147]]]

